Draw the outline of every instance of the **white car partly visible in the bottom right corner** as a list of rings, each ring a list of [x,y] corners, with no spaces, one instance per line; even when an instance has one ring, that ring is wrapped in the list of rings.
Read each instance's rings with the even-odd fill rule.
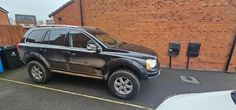
[[[236,91],[176,95],[156,110],[236,110]]]

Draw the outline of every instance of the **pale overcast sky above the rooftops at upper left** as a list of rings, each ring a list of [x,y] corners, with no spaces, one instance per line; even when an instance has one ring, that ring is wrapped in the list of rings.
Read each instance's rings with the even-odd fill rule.
[[[69,0],[0,0],[0,7],[9,11],[9,18],[15,14],[35,15],[37,20],[48,19],[48,14]]]

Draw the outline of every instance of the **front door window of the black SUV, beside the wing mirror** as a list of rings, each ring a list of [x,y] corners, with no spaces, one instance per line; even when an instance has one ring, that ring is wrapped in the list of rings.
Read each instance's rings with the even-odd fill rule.
[[[78,31],[71,31],[70,37],[71,47],[86,48],[88,43],[94,43],[87,35]]]

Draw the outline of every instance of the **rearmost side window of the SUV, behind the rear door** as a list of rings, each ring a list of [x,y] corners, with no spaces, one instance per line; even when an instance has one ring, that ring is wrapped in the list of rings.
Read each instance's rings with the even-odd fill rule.
[[[47,32],[47,30],[35,30],[26,38],[26,42],[30,43],[40,43],[42,37]]]

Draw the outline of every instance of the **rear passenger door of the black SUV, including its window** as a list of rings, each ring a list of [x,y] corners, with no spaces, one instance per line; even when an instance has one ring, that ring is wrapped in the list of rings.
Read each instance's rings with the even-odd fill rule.
[[[47,60],[52,70],[68,71],[66,39],[68,32],[65,29],[52,29],[45,36],[40,48],[41,54]]]

